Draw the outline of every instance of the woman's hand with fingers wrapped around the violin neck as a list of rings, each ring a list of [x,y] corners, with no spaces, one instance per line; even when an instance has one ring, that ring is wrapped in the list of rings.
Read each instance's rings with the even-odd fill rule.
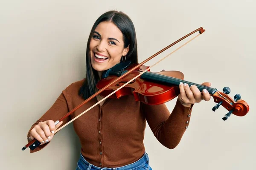
[[[202,85],[209,87],[211,83],[204,82]],[[189,87],[189,85],[186,83],[181,83],[179,87],[180,94],[178,95],[178,99],[185,107],[191,107],[191,105],[194,103],[199,103],[202,100],[209,101],[211,99],[211,96],[206,89],[204,89],[203,93],[201,93],[201,91],[199,91],[195,85]]]

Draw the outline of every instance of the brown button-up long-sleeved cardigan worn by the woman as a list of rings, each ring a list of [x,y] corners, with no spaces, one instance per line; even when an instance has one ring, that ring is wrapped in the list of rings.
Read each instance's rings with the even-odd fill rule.
[[[55,122],[83,102],[84,99],[78,95],[83,81],[74,82],[62,91],[52,107],[31,129],[40,121]],[[65,119],[61,126],[96,102],[95,97]],[[192,107],[184,107],[177,100],[170,114],[165,104],[145,105],[135,102],[133,96],[123,96],[119,99],[106,99],[102,106],[97,105],[87,111],[73,125],[81,141],[81,154],[88,162],[98,167],[120,167],[143,156],[146,121],[161,144],[169,149],[175,148],[189,125],[191,110]],[[30,152],[41,150],[47,144]]]

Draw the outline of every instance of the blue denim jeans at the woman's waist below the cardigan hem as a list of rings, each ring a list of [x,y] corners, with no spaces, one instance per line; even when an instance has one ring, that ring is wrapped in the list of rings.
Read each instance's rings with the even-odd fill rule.
[[[142,158],[140,158],[138,161],[122,167],[114,167],[114,168],[96,167],[93,164],[90,164],[89,162],[87,162],[84,159],[84,157],[81,155],[79,161],[77,162],[76,170],[152,170],[152,168],[149,166],[148,154],[144,153]]]

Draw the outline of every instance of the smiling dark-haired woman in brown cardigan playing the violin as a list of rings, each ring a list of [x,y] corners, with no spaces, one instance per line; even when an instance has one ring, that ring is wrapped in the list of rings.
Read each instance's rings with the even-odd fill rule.
[[[97,96],[68,119],[54,125],[56,120],[95,93],[103,71],[127,60],[138,61],[134,25],[126,14],[108,11],[96,20],[87,42],[86,78],[62,91],[52,107],[29,130],[28,140],[35,138],[41,142],[31,153],[47,146],[58,127],[102,99]],[[77,170],[151,170],[143,145],[146,121],[157,140],[173,149],[189,125],[193,104],[203,99],[209,101],[208,91],[201,94],[195,85],[189,87],[182,83],[171,114],[165,104],[145,105],[135,102],[133,96],[106,99],[73,122],[82,146]]]

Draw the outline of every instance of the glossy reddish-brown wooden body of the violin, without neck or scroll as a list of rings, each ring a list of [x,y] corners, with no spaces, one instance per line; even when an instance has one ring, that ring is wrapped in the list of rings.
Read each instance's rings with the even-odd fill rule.
[[[137,64],[132,64],[128,66],[128,68],[125,70],[128,71],[136,65]],[[132,71],[130,74],[120,79],[117,83],[112,84],[107,89],[102,91],[100,96],[108,96],[113,91],[118,89],[120,86],[124,85],[126,82],[139,75],[140,71],[145,71],[147,68],[148,66],[145,65],[140,66],[139,69]],[[156,74],[166,75],[168,77],[175,77],[178,79],[184,78],[183,73],[180,71],[162,70],[160,72],[157,72]],[[102,89],[103,87],[110,84],[117,78],[118,77],[116,75],[109,75],[108,77],[101,79],[97,83],[96,88]],[[142,79],[140,76],[137,77],[137,79],[134,79],[129,84],[127,84],[125,87],[121,88],[119,91],[116,91],[116,93],[109,96],[109,98],[118,99],[121,96],[134,95],[135,101],[140,101],[148,105],[159,105],[174,99],[175,97],[177,97],[178,94],[180,94],[179,87],[175,85],[160,84],[158,82]]]

